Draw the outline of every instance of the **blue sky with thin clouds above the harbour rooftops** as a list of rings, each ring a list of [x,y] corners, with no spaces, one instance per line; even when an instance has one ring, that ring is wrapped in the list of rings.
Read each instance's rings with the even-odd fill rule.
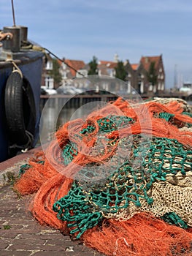
[[[162,54],[166,88],[192,82],[191,0],[14,0],[16,25],[59,58],[139,63]],[[0,29],[12,26],[1,0]]]

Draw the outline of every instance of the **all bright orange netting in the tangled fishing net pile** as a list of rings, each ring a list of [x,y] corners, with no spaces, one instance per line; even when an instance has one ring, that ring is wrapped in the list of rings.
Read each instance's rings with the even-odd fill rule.
[[[44,154],[41,155],[45,159],[45,164],[38,164],[37,159],[31,159],[29,162],[31,168],[15,184],[15,189],[22,195],[37,192],[30,207],[34,217],[41,224],[47,224],[68,233],[66,222],[57,219],[53,211],[53,203],[69,192],[73,179],[67,177],[72,177],[78,172],[78,168],[71,164],[64,166],[61,159],[61,150],[69,143],[69,140],[74,141],[77,147],[81,148],[80,151],[78,150],[77,157],[74,157],[73,163],[82,166],[91,162],[103,162],[113,154],[113,151],[106,151],[102,159],[83,153],[85,153],[86,147],[91,147],[96,142],[95,136],[99,131],[97,124],[99,118],[112,113],[133,118],[134,124],[130,124],[129,127],[120,129],[120,131],[112,131],[109,135],[111,138],[123,138],[124,135],[137,135],[142,132],[161,138],[173,138],[183,145],[192,146],[191,130],[180,130],[180,127],[185,126],[186,123],[192,124],[192,118],[183,115],[183,111],[182,103],[177,101],[169,102],[166,105],[158,102],[145,102],[145,105],[138,104],[132,107],[128,102],[119,98],[105,108],[91,113],[86,121],[77,119],[64,124],[56,132],[56,139],[50,143],[45,156]],[[173,114],[173,123],[154,116],[154,113],[162,112]],[[80,130],[86,127],[89,122],[95,127],[90,137],[84,136],[83,138],[83,135],[81,138],[75,137],[74,135],[79,134]],[[94,227],[86,231],[82,235],[82,240],[88,246],[96,248],[106,255],[163,256],[173,255],[173,252],[181,252],[183,249],[187,250],[192,236],[191,233],[180,227],[168,225],[159,219],[141,213],[125,222],[118,222],[114,219],[104,220],[101,227]]]

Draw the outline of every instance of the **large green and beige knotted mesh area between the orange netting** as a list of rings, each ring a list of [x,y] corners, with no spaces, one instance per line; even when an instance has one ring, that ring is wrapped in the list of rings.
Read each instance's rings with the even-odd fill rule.
[[[125,145],[123,139],[120,143]],[[98,225],[102,217],[125,220],[139,211],[153,212],[156,217],[174,212],[192,224],[191,149],[177,140],[152,138],[149,143],[134,135],[130,155],[99,183],[74,181],[69,194],[54,204],[58,218],[69,222],[72,233],[79,232],[77,237]],[[82,174],[85,181],[89,172],[89,167],[82,167],[78,177]]]

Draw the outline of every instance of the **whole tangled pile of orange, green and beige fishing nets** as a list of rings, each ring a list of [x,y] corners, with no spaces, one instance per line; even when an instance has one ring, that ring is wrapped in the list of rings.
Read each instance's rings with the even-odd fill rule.
[[[41,223],[105,255],[192,254],[192,114],[181,99],[121,98],[58,129],[21,167]]]

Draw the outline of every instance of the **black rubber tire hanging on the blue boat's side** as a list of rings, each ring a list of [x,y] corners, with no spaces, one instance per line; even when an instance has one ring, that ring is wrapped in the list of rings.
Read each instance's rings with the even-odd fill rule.
[[[30,148],[33,143],[36,122],[34,94],[30,83],[12,72],[7,79],[4,95],[9,143]],[[29,143],[28,132],[32,135]]]

